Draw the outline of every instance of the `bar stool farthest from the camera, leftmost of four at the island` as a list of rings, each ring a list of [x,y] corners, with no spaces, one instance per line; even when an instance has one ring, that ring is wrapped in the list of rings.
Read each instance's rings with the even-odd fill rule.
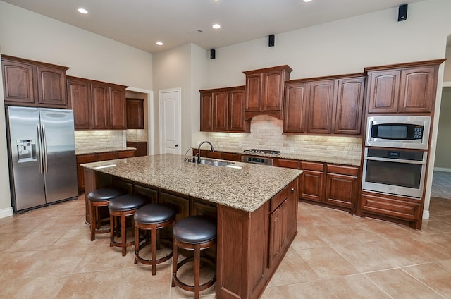
[[[91,211],[91,240],[96,233],[109,233],[109,228],[101,229],[101,222],[106,219],[100,218],[99,207],[108,207],[110,201],[125,194],[125,191],[117,188],[99,188],[88,193],[87,200]]]

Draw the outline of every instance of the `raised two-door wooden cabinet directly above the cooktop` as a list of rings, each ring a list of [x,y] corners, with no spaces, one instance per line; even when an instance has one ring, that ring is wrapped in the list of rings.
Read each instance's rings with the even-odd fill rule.
[[[286,80],[290,80],[290,66],[275,66],[245,71],[245,119],[266,114],[283,119],[283,94]]]

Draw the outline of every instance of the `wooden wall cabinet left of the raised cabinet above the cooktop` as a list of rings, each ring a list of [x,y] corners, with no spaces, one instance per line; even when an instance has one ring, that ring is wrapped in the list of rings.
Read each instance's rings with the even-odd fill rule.
[[[250,132],[244,86],[200,90],[200,109],[201,131]]]

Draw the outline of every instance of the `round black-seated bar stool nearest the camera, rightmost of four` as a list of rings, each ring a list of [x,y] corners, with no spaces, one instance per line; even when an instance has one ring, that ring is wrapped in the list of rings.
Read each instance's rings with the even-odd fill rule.
[[[214,276],[206,283],[200,284],[200,262],[206,262],[215,268],[216,263],[209,257],[201,257],[201,250],[210,248],[216,244],[216,222],[205,216],[190,216],[175,224],[173,227],[173,276],[172,286],[177,285],[185,291],[194,291],[194,298],[199,299],[199,292],[213,286],[216,282],[216,271]],[[187,257],[185,260],[177,263],[178,248],[193,250],[194,256]],[[194,286],[180,281],[177,271],[184,264],[194,260]]]

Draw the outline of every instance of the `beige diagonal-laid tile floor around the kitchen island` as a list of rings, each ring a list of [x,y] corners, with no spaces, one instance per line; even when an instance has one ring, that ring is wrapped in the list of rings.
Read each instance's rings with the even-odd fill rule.
[[[422,231],[299,203],[298,234],[273,298],[451,298],[451,200],[433,198]],[[109,238],[89,241],[84,197],[0,219],[0,298],[192,298]],[[202,293],[214,298],[214,288]]]

